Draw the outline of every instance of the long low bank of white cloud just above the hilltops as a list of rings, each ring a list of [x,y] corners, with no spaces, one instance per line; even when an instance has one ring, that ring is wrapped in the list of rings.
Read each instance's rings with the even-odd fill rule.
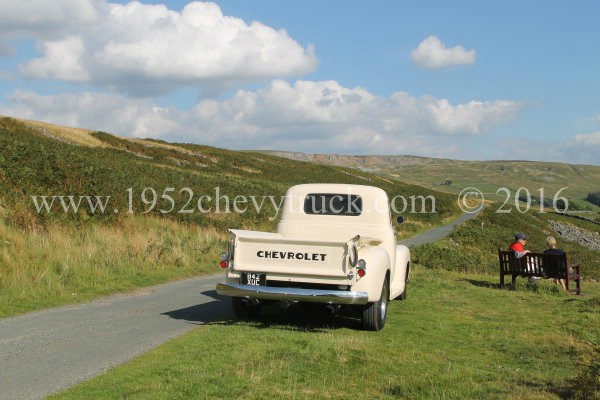
[[[462,146],[465,137],[490,132],[521,108],[503,100],[453,105],[403,92],[379,97],[335,81],[274,80],[223,101],[200,101],[191,110],[116,94],[16,91],[0,114],[231,148],[460,157],[469,151]]]

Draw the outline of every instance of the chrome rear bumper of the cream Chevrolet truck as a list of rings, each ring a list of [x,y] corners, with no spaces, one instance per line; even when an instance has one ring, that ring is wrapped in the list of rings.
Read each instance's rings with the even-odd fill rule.
[[[326,304],[367,304],[369,300],[367,292],[250,286],[235,283],[217,284],[217,293],[231,297]]]

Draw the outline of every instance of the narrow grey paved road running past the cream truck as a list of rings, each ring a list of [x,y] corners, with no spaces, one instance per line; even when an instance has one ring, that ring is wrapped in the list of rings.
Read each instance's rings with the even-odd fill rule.
[[[440,239],[457,221],[402,241]],[[0,399],[39,399],[94,377],[230,313],[215,292],[222,274],[0,320]]]

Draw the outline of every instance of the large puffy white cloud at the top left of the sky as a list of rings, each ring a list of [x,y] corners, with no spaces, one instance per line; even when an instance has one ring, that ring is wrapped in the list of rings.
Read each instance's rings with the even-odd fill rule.
[[[0,6],[0,15],[8,13],[0,17],[7,24],[0,34],[40,42],[42,56],[21,65],[27,77],[144,96],[299,77],[317,65],[312,46],[303,48],[284,30],[224,16],[214,3],[192,2],[181,12],[104,0],[9,3]]]

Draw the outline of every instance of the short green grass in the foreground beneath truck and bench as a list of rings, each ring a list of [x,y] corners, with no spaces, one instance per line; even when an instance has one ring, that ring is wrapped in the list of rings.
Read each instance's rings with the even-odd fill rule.
[[[524,282],[499,289],[495,277],[416,266],[408,300],[391,303],[380,332],[359,330],[352,313],[272,307],[256,321],[225,318],[199,327],[50,398],[598,395],[598,377],[590,374],[598,368],[600,285],[586,284],[584,296],[573,297],[550,282]]]

